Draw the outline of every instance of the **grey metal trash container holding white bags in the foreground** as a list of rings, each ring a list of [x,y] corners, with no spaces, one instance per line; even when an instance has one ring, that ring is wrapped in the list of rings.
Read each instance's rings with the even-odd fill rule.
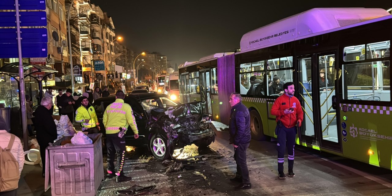
[[[52,196],[96,195],[103,181],[102,133],[87,136],[93,144],[61,145],[73,137],[66,136],[47,147],[45,191],[49,189],[50,180]]]

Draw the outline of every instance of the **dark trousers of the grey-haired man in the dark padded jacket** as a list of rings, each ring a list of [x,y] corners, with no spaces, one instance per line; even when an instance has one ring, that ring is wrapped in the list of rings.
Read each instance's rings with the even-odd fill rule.
[[[234,149],[234,160],[237,163],[236,178],[241,178],[242,183],[250,183],[248,165],[246,164],[246,150],[248,147],[249,143],[240,143]]]

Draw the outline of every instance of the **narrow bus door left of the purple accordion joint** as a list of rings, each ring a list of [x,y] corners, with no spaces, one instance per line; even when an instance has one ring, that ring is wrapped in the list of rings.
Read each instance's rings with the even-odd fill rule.
[[[211,77],[210,69],[200,71],[200,98],[202,102],[206,102],[205,113],[212,115],[211,107]]]

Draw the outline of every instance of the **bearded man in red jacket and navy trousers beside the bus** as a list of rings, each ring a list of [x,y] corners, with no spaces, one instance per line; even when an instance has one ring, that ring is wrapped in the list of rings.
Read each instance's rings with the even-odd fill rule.
[[[278,136],[278,172],[279,178],[285,179],[283,172],[283,163],[285,162],[285,151],[289,154],[289,176],[294,177],[294,146],[297,133],[297,127],[301,127],[303,121],[303,111],[301,103],[294,97],[294,83],[287,82],[283,85],[285,93],[278,97],[271,109],[271,114],[276,116],[275,134]]]

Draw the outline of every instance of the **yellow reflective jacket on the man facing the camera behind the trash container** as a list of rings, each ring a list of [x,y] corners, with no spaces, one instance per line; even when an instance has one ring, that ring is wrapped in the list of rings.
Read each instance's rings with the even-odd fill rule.
[[[88,123],[85,122],[86,119],[89,120]],[[75,121],[82,123],[82,131],[99,125],[97,115],[92,105],[89,108],[86,108],[83,105],[80,106],[76,110]]]

